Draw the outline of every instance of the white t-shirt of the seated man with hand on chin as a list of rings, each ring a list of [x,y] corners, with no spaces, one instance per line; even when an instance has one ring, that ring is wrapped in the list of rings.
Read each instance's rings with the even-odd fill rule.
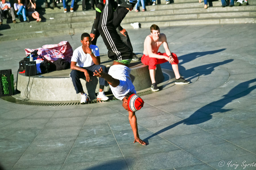
[[[90,45],[94,56],[100,56],[99,48],[96,45]],[[82,46],[74,50],[71,61],[77,62],[78,67],[90,67],[94,65],[90,54],[85,54]]]

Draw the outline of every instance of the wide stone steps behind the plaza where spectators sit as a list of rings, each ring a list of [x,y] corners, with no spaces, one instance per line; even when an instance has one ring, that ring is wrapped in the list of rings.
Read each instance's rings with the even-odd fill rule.
[[[159,26],[253,23],[256,19],[256,0],[249,3],[247,6],[222,8],[221,1],[213,1],[213,6],[205,9],[203,3],[192,0],[184,3],[179,0],[168,5],[146,6],[145,12],[133,10],[121,25],[125,29],[132,29],[130,24],[134,22],[139,22],[143,28],[153,23]],[[45,13],[43,22],[38,23],[6,24],[4,20],[4,25],[0,26],[0,41],[90,32],[95,10],[82,11],[81,8],[79,6],[77,11],[67,13],[63,12],[63,8],[42,9],[41,12]]]

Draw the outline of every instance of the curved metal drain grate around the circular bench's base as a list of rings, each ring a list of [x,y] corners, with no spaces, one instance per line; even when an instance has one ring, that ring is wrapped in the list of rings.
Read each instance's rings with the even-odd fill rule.
[[[145,92],[141,92],[141,93],[137,93],[139,96],[143,96],[143,95],[147,95],[147,94],[151,94],[151,93],[155,93],[152,90],[148,90]],[[5,100],[5,101],[9,101],[12,103],[17,103],[17,104],[22,104],[22,105],[34,105],[34,106],[67,106],[67,105],[81,105],[80,102],[51,102],[51,103],[44,103],[44,102],[31,102],[31,101],[23,101],[23,100],[19,100],[19,99],[15,99],[12,96],[4,96],[4,97],[0,97],[1,99]],[[102,102],[109,102],[109,101],[115,101],[118,100],[117,98],[115,98],[112,95],[112,98],[108,101],[101,101],[101,100],[92,100],[86,104],[91,104],[91,103],[102,103]]]

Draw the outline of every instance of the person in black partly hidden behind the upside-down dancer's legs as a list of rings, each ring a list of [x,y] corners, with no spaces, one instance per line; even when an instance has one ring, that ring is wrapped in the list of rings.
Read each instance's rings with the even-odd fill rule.
[[[104,1],[104,3],[106,3],[106,1]],[[92,44],[93,45],[96,45],[96,42],[97,42],[97,39],[98,37],[100,36],[100,33],[98,31],[98,25],[99,25],[99,21],[100,21],[100,14],[104,8],[104,3],[99,3],[96,7],[96,17],[95,17],[95,20],[94,20],[94,23],[92,25],[92,30],[91,30],[91,33],[90,33],[90,36],[92,38]],[[113,8],[114,10],[117,8],[117,3],[116,2],[113,2]],[[118,35],[121,37],[121,40],[127,44],[129,46],[129,48],[131,48],[131,50],[133,51],[133,47],[132,47],[132,44],[131,44],[131,41],[129,39],[129,35],[127,33],[127,31],[125,29],[123,29],[121,27],[121,25],[118,25],[117,27],[117,33]],[[133,61],[138,61],[139,58],[136,56],[135,53],[133,53]]]

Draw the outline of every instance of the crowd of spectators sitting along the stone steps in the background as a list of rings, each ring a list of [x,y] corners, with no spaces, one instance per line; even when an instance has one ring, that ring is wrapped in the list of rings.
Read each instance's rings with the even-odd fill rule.
[[[27,17],[32,17],[36,19],[36,22],[40,22],[42,19],[40,14],[35,10],[36,9],[36,2],[35,0],[15,0],[13,7],[11,7],[11,3],[7,2],[8,0],[1,0],[0,1],[0,25],[3,24],[4,18],[12,18],[13,23],[17,23],[16,17],[20,19],[22,22],[28,22]],[[116,0],[118,6],[120,5],[120,0]],[[241,2],[240,2],[241,1]],[[67,12],[67,2],[66,0],[53,0],[52,4],[53,7],[56,6],[58,3],[63,2],[64,12]],[[103,3],[103,0],[90,0],[91,9],[95,10],[99,3]],[[199,0],[201,3],[201,0]],[[222,7],[229,7],[239,6],[239,5],[247,5],[247,0],[238,0],[236,3],[234,0],[230,0],[226,2],[226,0],[221,0]],[[74,12],[74,4],[75,0],[71,0],[70,12]],[[166,4],[170,4],[169,0],[166,0]],[[204,0],[204,8],[208,8],[208,0]],[[82,10],[86,10],[86,0],[82,0]],[[135,12],[139,12],[139,6],[142,6],[142,12],[146,11],[145,5],[156,5],[156,0],[138,0],[134,9]],[[48,8],[48,1],[45,1],[45,7]]]

